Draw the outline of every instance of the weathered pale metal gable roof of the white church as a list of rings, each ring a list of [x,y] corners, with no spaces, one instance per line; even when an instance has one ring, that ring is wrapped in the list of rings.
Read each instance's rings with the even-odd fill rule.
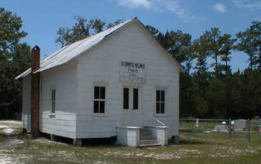
[[[120,24],[115,25],[114,27],[111,27],[111,28],[109,28],[105,31],[101,31],[100,33],[96,33],[93,36],[87,37],[83,40],[79,40],[77,42],[74,42],[72,44],[68,44],[67,46],[62,47],[61,49],[59,49],[55,53],[49,55],[49,57],[46,57],[45,59],[40,61],[40,68],[38,70],[36,70],[36,72],[42,72],[44,70],[48,70],[48,69],[54,68],[56,66],[61,66],[62,64],[65,64],[68,61],[71,61],[75,57],[81,55],[83,52],[92,48],[92,46],[95,46],[96,44],[100,43],[102,40],[107,38],[107,36],[110,36],[112,33],[115,33],[119,29],[122,29],[123,27],[125,27],[129,23],[133,22],[133,20],[138,20],[138,19],[132,18],[130,20],[126,20],[124,23],[120,23]],[[139,20],[138,20],[138,22],[144,27],[144,25]],[[156,40],[156,39],[154,39],[154,40]],[[171,58],[174,59],[173,57],[171,57]],[[174,61],[178,65],[178,67],[180,68],[180,71],[182,71],[183,68],[180,66],[180,64],[178,64],[176,59],[174,59]],[[36,72],[34,72],[34,73],[36,73]],[[25,72],[23,72],[22,74],[19,74],[15,79],[20,79],[22,77],[26,77],[30,73],[31,73],[31,68],[29,68],[28,70],[25,70]]]

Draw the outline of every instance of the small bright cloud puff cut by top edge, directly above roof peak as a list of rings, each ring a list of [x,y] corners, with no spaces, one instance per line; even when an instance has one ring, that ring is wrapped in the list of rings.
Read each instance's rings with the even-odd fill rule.
[[[120,5],[125,5],[128,8],[150,8],[151,3],[148,0],[118,0]]]

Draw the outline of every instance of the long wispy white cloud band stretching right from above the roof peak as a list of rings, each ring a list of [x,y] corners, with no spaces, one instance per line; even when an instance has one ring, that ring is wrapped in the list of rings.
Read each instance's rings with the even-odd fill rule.
[[[185,10],[180,0],[117,0],[119,5],[128,8],[147,8],[158,12],[169,11],[185,22],[189,20],[204,20],[201,16],[195,16]]]

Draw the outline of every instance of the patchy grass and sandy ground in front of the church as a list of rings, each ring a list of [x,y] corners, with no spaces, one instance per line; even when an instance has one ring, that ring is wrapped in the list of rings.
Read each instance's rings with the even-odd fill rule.
[[[1,125],[5,124],[0,122]],[[129,148],[110,145],[79,148],[44,138],[27,139],[19,132],[6,135],[0,131],[0,163],[8,161],[10,163],[257,164],[261,161],[261,135],[251,133],[251,141],[247,142],[231,141],[228,139],[228,133],[181,133],[179,145],[170,142],[166,147]]]

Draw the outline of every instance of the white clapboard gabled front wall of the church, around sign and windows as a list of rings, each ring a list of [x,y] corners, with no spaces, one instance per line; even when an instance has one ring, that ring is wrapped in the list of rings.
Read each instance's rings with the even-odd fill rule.
[[[143,114],[133,118],[122,118],[124,84],[119,81],[120,61],[146,64],[147,68],[147,82],[141,85],[139,95],[139,110],[143,110]],[[165,117],[155,117],[169,126],[169,135],[178,135],[179,68],[138,23],[128,25],[81,55],[78,59],[77,74],[77,90],[81,102],[77,111],[77,137],[110,137],[115,134],[115,126],[121,126],[124,122],[135,124],[135,118],[143,119],[145,126],[159,126],[153,119],[156,110],[155,87],[166,87],[167,111]],[[106,83],[106,116],[93,115],[96,83]]]

